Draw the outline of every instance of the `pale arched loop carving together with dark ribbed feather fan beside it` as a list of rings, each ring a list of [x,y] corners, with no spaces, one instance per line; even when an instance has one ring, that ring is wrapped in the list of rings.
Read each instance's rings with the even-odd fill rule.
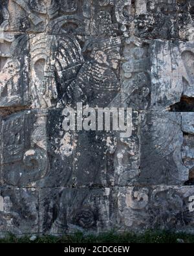
[[[76,38],[39,34],[30,38],[32,107],[55,107],[83,63]]]

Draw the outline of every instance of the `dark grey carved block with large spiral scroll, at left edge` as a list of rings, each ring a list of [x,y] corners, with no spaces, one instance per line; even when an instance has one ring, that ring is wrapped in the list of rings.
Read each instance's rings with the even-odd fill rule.
[[[30,118],[28,113],[16,114],[2,125],[3,178],[10,185],[27,187],[43,178],[48,171],[47,135],[44,128],[47,116],[38,113],[34,132]]]

